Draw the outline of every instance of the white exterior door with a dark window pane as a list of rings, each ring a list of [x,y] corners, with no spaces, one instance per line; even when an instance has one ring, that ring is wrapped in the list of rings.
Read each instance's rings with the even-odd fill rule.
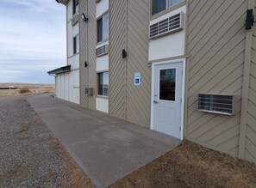
[[[154,65],[153,130],[181,138],[183,63]]]

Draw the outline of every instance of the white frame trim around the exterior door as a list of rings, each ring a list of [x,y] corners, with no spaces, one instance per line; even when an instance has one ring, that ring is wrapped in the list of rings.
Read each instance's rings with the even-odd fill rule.
[[[154,79],[155,79],[155,67],[157,65],[163,65],[163,64],[175,64],[175,63],[182,63],[182,102],[181,102],[181,131],[180,131],[180,139],[184,139],[184,91],[185,91],[185,70],[186,70],[186,59],[185,58],[179,58],[175,60],[165,61],[165,62],[159,62],[159,63],[153,63],[152,64],[152,83],[151,83],[151,120],[150,120],[150,129],[154,130],[153,127],[153,95],[154,95]]]

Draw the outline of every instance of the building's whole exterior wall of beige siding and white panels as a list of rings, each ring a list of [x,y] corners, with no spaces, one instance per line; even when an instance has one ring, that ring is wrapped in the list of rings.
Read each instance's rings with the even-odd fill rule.
[[[69,1],[67,33],[68,37],[80,34],[80,53],[72,54],[72,40],[67,39],[72,72],[57,76],[57,97],[149,128],[152,67],[164,60],[184,59],[184,138],[256,162],[256,27],[245,29],[247,9],[255,9],[256,0],[187,0],[159,15],[151,15],[151,2],[81,0],[79,14],[88,15],[89,21],[79,19],[78,27],[70,27]],[[109,44],[109,54],[97,58],[96,48],[104,44],[97,43],[97,17],[106,9],[109,39],[103,42]],[[150,23],[181,11],[184,30],[148,38]],[[174,45],[168,48],[168,44]],[[99,97],[97,73],[105,70],[109,70],[109,97]],[[134,85],[135,73],[141,75],[140,86]],[[92,96],[84,93],[86,87],[93,88]],[[200,93],[234,94],[234,115],[199,112]]]

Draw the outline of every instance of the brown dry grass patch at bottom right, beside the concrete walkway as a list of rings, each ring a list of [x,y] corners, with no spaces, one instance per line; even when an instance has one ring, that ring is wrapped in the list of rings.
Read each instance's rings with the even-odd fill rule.
[[[256,187],[256,166],[184,141],[110,187]]]

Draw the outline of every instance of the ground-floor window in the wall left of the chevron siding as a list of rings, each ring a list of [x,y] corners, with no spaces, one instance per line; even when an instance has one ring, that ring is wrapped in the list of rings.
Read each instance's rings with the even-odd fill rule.
[[[109,96],[109,72],[98,73],[98,95]]]

